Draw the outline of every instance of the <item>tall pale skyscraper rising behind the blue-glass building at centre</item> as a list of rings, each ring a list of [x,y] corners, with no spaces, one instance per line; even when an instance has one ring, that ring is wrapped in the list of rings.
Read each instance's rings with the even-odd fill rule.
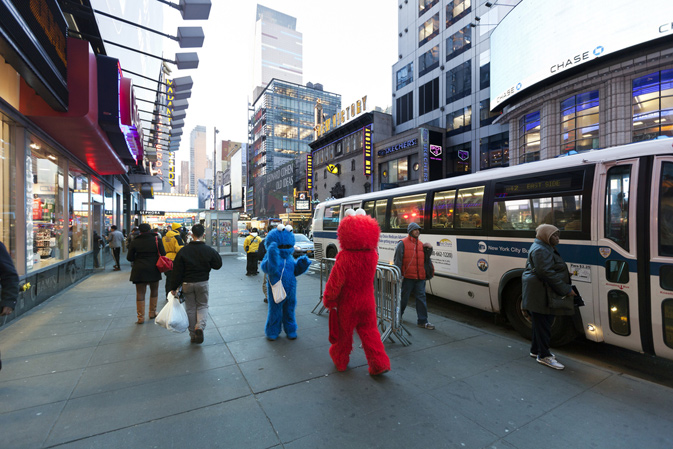
[[[257,5],[253,47],[253,98],[276,78],[302,84],[302,34],[297,19]]]

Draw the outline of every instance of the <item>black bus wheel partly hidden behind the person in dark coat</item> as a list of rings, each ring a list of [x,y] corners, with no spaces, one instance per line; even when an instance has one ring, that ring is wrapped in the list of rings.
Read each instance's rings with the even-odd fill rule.
[[[521,280],[512,281],[506,287],[505,315],[507,320],[523,338],[530,340],[533,334],[531,317],[521,305],[523,302]],[[551,342],[553,347],[566,345],[577,338],[571,316],[557,316],[551,326]]]

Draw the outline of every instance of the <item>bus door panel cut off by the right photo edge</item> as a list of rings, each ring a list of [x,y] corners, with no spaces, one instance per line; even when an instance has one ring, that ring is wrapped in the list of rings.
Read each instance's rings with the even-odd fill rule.
[[[652,172],[650,298],[654,353],[673,358],[673,157],[657,157]]]

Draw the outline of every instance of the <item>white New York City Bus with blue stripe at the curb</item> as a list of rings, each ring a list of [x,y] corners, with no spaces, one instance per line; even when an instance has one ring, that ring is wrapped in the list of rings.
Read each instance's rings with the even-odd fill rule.
[[[426,291],[504,315],[526,338],[521,274],[535,228],[553,224],[585,306],[556,318],[552,344],[584,335],[673,359],[673,139],[320,203],[316,259],[338,253],[337,228],[349,208],[378,221],[386,263],[408,224],[418,223],[421,241],[434,247],[435,277]]]

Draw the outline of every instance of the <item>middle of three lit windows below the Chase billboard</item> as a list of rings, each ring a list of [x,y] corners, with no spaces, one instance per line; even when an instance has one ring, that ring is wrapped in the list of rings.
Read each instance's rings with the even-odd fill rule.
[[[598,148],[598,91],[561,102],[561,154]]]

